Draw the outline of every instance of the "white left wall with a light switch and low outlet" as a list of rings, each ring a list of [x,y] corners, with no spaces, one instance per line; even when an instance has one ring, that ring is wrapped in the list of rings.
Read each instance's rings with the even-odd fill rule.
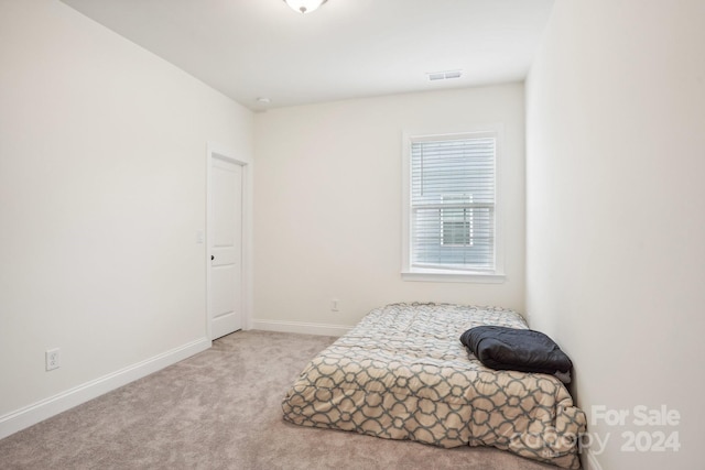
[[[251,139],[250,111],[63,3],[0,1],[0,435],[209,345],[206,144]]]

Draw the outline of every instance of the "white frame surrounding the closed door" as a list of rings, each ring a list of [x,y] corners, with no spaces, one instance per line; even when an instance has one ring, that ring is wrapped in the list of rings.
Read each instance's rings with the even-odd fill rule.
[[[237,156],[236,156],[237,155]],[[206,267],[206,335],[213,337],[210,321],[210,223],[213,220],[213,201],[210,190],[213,188],[213,159],[226,160],[242,167],[242,329],[251,329],[252,325],[252,162],[250,159],[240,157],[241,153],[235,152],[224,145],[208,142],[206,150],[206,229],[205,229],[205,267]],[[249,155],[248,155],[249,156]]]

